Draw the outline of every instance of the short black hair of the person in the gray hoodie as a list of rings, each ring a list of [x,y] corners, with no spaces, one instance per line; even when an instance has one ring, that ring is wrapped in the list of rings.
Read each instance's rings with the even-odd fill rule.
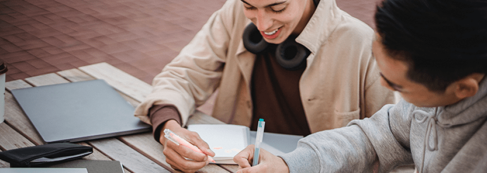
[[[388,55],[432,91],[487,73],[487,0],[384,0],[375,20]]]

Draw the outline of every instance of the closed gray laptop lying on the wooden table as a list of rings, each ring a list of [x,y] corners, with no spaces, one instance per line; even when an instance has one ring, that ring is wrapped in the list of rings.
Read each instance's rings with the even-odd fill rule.
[[[11,90],[46,143],[79,142],[151,131],[104,80]]]

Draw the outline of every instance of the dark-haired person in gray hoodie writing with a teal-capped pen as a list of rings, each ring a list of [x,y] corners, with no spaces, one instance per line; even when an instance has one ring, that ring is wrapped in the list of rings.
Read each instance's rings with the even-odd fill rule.
[[[487,1],[384,0],[375,19],[381,83],[404,100],[254,167],[250,145],[237,173],[487,173]]]

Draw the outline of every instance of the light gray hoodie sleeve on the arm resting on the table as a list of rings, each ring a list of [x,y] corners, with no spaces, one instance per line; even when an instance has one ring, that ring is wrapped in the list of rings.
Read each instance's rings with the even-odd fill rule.
[[[290,173],[388,173],[413,163],[408,111],[406,102],[385,105],[371,118],[308,135],[281,157]]]

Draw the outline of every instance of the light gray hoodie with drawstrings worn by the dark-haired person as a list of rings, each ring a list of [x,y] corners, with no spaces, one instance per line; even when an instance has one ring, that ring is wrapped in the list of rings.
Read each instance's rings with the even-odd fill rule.
[[[281,156],[290,173],[387,173],[413,164],[419,173],[487,173],[487,77],[476,95],[448,106],[404,100],[371,118],[301,139]]]

